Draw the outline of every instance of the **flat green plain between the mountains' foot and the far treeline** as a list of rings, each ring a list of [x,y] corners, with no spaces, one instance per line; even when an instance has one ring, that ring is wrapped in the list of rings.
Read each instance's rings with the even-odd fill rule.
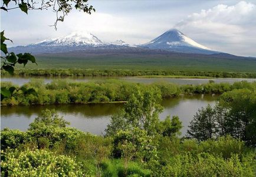
[[[207,55],[136,55],[136,54],[97,54],[87,55],[74,51],[74,55],[38,54],[38,66],[28,63],[27,69],[136,69],[136,70],[174,70],[174,71],[218,71],[254,72],[255,58],[236,56]],[[85,52],[87,53],[87,52]],[[21,68],[23,66],[17,66]]]

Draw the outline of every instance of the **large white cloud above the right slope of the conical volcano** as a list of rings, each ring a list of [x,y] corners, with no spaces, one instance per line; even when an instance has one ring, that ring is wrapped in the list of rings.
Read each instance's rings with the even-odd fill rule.
[[[175,27],[191,34],[198,41],[205,41],[204,45],[210,48],[231,54],[255,56],[256,51],[251,51],[250,54],[242,52],[252,45],[256,46],[255,16],[256,5],[250,2],[241,1],[231,6],[219,4],[188,15]]]

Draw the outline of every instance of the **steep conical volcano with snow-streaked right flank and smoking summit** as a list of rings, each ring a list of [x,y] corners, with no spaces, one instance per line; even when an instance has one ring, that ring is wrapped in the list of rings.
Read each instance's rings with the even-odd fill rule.
[[[198,54],[215,54],[215,51],[204,45],[198,44],[178,29],[170,29],[164,34],[158,36],[142,46],[152,49],[166,49],[168,51],[198,53]]]

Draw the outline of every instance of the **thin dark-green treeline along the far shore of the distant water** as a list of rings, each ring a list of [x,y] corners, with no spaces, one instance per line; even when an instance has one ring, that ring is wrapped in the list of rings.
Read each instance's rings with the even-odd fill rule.
[[[1,75],[8,75],[2,71]],[[172,71],[172,70],[129,70],[129,69],[15,69],[14,75],[23,76],[145,76],[180,75],[208,76],[212,78],[256,78],[256,72],[219,71]]]

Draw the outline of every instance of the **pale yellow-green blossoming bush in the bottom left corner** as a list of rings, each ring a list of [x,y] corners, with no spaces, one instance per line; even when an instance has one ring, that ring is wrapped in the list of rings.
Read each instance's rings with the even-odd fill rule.
[[[1,159],[1,176],[83,176],[73,158],[44,150],[2,152]]]

